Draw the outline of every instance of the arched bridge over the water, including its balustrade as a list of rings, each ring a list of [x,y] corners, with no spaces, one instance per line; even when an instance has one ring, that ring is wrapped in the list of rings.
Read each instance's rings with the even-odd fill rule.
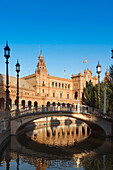
[[[18,134],[27,124],[35,122],[36,119],[43,118],[43,121],[47,121],[47,117],[53,116],[67,116],[76,118],[86,122],[94,133],[101,136],[112,136],[112,120],[104,118],[99,114],[91,114],[90,108],[83,105],[76,105],[73,107],[41,107],[33,109],[25,109],[17,112],[16,110],[11,112],[10,128],[11,135]],[[34,123],[35,124],[35,123]]]

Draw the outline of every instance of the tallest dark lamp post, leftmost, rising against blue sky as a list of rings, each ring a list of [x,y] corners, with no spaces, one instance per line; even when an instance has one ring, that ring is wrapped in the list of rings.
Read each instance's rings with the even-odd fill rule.
[[[8,77],[8,59],[10,58],[10,48],[8,42],[4,48],[4,57],[6,58],[6,111],[9,111],[9,77]]]

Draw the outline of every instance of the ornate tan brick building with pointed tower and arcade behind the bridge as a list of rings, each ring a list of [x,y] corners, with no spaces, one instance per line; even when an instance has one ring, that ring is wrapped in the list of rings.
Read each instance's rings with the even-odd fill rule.
[[[73,75],[71,79],[54,77],[47,74],[47,69],[40,51],[35,73],[19,79],[19,108],[46,106],[53,104],[76,104],[81,101],[86,81],[97,83],[97,77],[87,69],[84,74]],[[6,75],[0,74],[0,110],[5,109]],[[9,76],[9,107],[16,109],[17,78]]]

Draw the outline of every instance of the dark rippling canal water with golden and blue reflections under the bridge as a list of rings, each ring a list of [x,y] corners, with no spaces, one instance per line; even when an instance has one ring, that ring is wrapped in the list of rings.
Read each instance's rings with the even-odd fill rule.
[[[0,170],[112,170],[113,141],[92,135],[81,121],[29,124],[11,136],[0,154]]]

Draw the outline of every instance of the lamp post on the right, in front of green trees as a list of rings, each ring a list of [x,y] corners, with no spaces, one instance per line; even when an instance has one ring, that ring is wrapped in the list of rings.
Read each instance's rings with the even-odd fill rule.
[[[100,109],[100,73],[101,73],[101,66],[98,61],[98,65],[96,66],[97,74],[98,74],[98,98],[97,98],[97,105],[98,109]]]

